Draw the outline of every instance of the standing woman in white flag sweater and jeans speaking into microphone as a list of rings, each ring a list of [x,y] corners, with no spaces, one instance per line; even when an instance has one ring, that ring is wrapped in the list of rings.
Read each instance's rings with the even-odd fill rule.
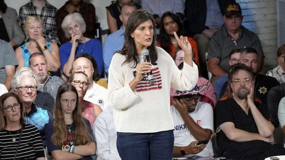
[[[125,42],[109,68],[108,100],[114,109],[117,149],[122,160],[172,159],[174,123],[170,114],[170,86],[191,90],[198,80],[197,65],[187,37],[175,38],[185,52],[180,71],[170,55],[156,47],[153,16],[133,12],[126,25]],[[142,50],[148,49],[150,63]],[[147,73],[153,74],[153,85]]]

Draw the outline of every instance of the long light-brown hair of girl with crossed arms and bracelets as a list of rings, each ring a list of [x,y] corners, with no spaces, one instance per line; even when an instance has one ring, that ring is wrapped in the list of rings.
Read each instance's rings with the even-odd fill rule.
[[[79,107],[79,100],[76,88],[72,84],[62,84],[58,88],[56,95],[56,105],[53,111],[53,128],[54,132],[51,137],[53,145],[62,146],[67,141],[67,129],[64,122],[64,115],[61,109],[60,98],[61,95],[65,92],[74,92],[76,94],[76,106],[72,111],[73,117],[73,130],[72,133],[73,141],[75,145],[85,145],[86,143],[91,142],[92,136],[88,132],[87,125],[85,124],[85,119],[82,117],[82,111]]]

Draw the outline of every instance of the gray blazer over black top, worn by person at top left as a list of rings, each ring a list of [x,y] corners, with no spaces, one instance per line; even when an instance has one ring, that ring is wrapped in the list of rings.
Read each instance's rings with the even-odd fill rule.
[[[8,7],[5,13],[1,13],[10,41],[14,41],[18,46],[23,43],[25,35],[19,25],[17,12]]]

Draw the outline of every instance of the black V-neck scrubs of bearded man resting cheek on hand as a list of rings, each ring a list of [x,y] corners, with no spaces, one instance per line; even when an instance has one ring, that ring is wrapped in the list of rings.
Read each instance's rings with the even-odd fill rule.
[[[260,104],[259,102],[254,102],[258,110],[269,120],[269,112],[265,104]],[[257,125],[252,116],[251,110],[249,109],[248,115],[243,111],[243,109],[236,103],[233,98],[227,100],[219,101],[216,104],[215,113],[215,128],[218,128],[221,124],[225,122],[232,122],[235,124],[235,128],[241,129],[251,133],[259,133]],[[219,129],[217,129],[219,131]],[[221,153],[223,152],[235,152],[236,154],[241,154],[243,150],[250,151],[253,153],[252,148],[256,148],[255,145],[259,145],[261,148],[263,145],[267,146],[269,143],[264,143],[264,141],[254,140],[247,142],[234,142],[228,139],[225,133],[220,130],[217,132],[217,139]],[[240,151],[240,152],[239,152]]]

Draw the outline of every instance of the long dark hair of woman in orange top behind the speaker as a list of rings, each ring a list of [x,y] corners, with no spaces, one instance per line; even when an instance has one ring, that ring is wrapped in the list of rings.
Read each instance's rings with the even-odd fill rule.
[[[170,36],[164,29],[164,25],[163,25],[163,20],[166,16],[169,16],[171,17],[174,22],[177,23],[178,25],[178,31],[177,31],[177,35],[178,36],[184,36],[185,34],[185,31],[184,31],[184,25],[183,23],[181,22],[181,19],[179,17],[179,15],[177,15],[176,13],[174,12],[165,12],[162,17],[161,17],[161,28],[160,28],[160,32],[159,32],[159,36],[160,36],[160,39],[159,41],[161,42],[161,48],[164,49],[167,53],[169,53],[171,51],[171,47],[170,47]]]

